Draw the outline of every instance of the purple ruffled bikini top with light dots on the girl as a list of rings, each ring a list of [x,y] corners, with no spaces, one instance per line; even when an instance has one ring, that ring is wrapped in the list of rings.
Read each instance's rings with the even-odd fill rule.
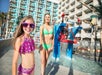
[[[23,44],[20,46],[20,54],[30,53],[35,50],[34,40],[32,38],[24,38]]]

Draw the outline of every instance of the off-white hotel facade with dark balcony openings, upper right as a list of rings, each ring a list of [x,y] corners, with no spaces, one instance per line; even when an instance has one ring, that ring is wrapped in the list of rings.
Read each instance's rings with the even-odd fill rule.
[[[96,15],[94,11],[92,11],[90,8],[90,5],[98,5],[97,0],[61,0],[59,3],[59,20],[58,22],[61,22],[61,13],[65,12],[68,14],[68,21],[74,22],[74,26],[77,26],[77,20],[78,18],[82,21],[81,26],[83,27],[83,30],[81,30],[80,37],[82,40],[88,40],[92,41],[92,38],[94,40],[95,33],[92,33],[92,26],[90,24],[91,22],[91,16]],[[88,6],[88,7],[87,7]],[[100,20],[97,20],[97,39],[100,39],[100,31],[101,31],[101,23]]]

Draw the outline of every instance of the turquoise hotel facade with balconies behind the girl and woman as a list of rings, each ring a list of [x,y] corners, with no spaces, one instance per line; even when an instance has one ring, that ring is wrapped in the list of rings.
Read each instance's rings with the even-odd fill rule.
[[[58,20],[58,3],[48,0],[10,0],[9,12],[11,19],[8,21],[8,33],[14,32],[18,19],[26,15],[33,16],[36,24],[34,32],[38,32],[40,25],[43,24],[45,13],[51,15],[51,22]]]

